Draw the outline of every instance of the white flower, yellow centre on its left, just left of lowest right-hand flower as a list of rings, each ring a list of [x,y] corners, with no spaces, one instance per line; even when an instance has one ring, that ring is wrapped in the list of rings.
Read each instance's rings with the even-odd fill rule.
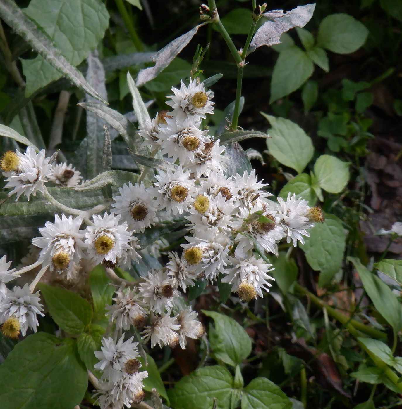
[[[204,273],[211,282],[223,273],[229,263],[229,239],[226,234],[215,234],[211,230],[199,231],[196,237],[186,236],[189,244],[182,244],[182,260],[198,274]]]

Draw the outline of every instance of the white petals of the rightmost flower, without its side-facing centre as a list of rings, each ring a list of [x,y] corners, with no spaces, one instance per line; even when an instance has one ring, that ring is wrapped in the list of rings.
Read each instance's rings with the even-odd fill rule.
[[[297,199],[293,193],[288,193],[286,202],[278,197],[279,211],[278,214],[282,218],[283,225],[286,231],[286,242],[293,241],[293,246],[296,247],[297,240],[304,244],[303,236],[310,236],[307,229],[311,229],[315,224],[309,219],[310,207],[308,202],[303,199]]]

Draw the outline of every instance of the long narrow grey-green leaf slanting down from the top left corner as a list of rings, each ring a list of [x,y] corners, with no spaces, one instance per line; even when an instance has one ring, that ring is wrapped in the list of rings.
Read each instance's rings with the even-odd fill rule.
[[[25,17],[15,2],[2,0],[0,2],[0,16],[2,19],[18,33],[32,48],[34,48],[46,61],[78,88],[102,102],[106,102],[89,85],[82,74],[71,65],[64,56],[52,45],[49,38],[32,22]]]

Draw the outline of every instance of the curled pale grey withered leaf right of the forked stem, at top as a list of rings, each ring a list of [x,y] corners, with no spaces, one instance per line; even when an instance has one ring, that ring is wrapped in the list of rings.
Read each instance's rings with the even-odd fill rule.
[[[286,13],[283,10],[268,11],[263,17],[270,21],[264,23],[254,34],[248,53],[254,52],[261,45],[274,45],[280,43],[281,34],[294,27],[304,27],[313,16],[315,3],[298,6]]]

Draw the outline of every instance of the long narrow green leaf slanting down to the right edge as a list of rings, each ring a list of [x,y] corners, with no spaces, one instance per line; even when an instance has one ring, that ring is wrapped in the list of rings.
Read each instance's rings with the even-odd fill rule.
[[[402,328],[402,307],[391,288],[374,273],[367,270],[356,257],[348,257],[359,273],[364,290],[371,298],[377,311],[388,321],[395,331]]]

